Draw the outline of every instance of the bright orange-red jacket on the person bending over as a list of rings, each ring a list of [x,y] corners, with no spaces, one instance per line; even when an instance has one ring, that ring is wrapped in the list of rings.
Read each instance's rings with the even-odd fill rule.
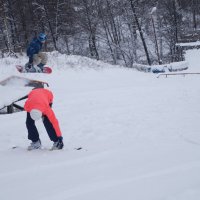
[[[46,115],[48,117],[49,121],[52,123],[56,131],[56,135],[60,137],[62,134],[60,131],[58,120],[56,119],[56,116],[49,105],[51,103],[53,103],[52,92],[44,88],[38,88],[32,90],[29,93],[28,99],[26,100],[24,105],[24,109],[27,112],[30,112],[32,109],[40,110],[43,115]]]

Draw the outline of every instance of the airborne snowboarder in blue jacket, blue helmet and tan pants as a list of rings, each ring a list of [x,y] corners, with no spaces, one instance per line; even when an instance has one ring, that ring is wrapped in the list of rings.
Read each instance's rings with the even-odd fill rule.
[[[46,41],[46,34],[40,33],[38,37],[33,38],[27,47],[27,56],[29,62],[25,64],[27,72],[42,72],[44,65],[47,63],[47,55],[41,52],[42,45]]]

